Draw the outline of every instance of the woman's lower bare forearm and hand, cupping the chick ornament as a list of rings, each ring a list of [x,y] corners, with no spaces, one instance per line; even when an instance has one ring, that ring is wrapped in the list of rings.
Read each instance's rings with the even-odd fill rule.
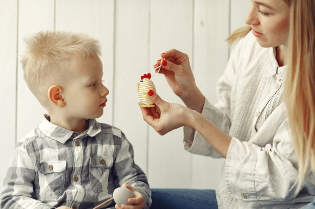
[[[160,135],[182,126],[198,131],[223,157],[226,157],[231,137],[221,131],[199,112],[179,104],[169,103],[153,94],[150,99],[156,105],[143,108],[143,119]]]

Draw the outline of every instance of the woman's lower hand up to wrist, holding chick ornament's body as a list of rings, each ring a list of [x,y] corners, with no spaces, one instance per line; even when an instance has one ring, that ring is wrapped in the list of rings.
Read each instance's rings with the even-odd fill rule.
[[[153,95],[152,95],[153,94]],[[193,110],[180,104],[164,101],[156,93],[149,90],[148,95],[155,104],[155,107],[141,107],[143,119],[160,135],[164,135],[181,126],[190,125],[189,113]]]

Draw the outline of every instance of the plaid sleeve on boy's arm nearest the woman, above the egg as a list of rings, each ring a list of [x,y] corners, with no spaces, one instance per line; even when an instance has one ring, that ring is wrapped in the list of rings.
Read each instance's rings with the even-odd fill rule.
[[[122,134],[121,147],[114,162],[115,175],[119,185],[127,183],[135,187],[144,197],[144,207],[151,205],[151,189],[147,177],[141,168],[134,162],[133,147]]]

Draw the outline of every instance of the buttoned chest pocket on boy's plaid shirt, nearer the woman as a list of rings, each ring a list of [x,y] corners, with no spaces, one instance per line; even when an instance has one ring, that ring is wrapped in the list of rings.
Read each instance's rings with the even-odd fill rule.
[[[103,184],[107,188],[110,168],[113,166],[112,156],[90,156],[89,177],[92,189],[103,192]]]

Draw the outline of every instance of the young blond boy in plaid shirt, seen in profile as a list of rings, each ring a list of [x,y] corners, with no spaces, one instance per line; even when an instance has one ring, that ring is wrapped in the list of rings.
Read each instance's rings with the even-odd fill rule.
[[[83,34],[40,32],[26,43],[24,78],[49,115],[17,143],[0,208],[92,209],[123,183],[136,196],[123,208],[149,208],[151,191],[132,145],[121,130],[95,119],[109,94],[99,42]]]

